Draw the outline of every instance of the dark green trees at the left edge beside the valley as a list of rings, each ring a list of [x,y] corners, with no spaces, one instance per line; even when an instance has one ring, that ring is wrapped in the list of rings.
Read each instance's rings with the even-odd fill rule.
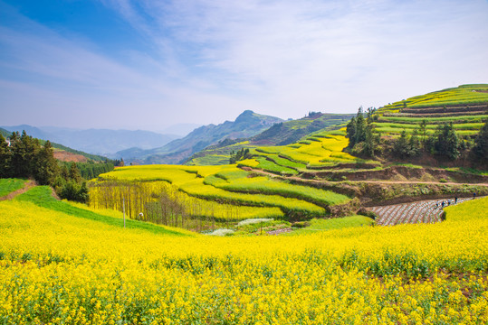
[[[97,166],[98,165],[98,166]],[[67,200],[88,201],[86,179],[113,170],[113,163],[62,163],[54,158],[53,144],[27,135],[10,135],[10,145],[0,135],[0,178],[33,178],[50,185]]]

